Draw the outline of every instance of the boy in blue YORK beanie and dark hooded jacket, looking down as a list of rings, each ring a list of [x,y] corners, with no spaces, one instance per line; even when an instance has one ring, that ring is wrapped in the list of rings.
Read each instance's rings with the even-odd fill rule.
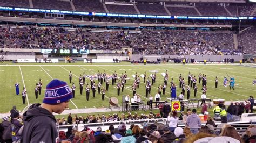
[[[66,82],[52,80],[46,86],[43,103],[32,104],[23,114],[23,142],[56,142],[58,131],[53,112],[62,113],[72,98]]]

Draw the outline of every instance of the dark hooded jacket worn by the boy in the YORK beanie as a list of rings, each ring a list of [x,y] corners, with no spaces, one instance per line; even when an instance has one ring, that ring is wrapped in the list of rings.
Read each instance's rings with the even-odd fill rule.
[[[23,114],[23,142],[56,142],[58,139],[55,117],[40,105],[31,105]]]

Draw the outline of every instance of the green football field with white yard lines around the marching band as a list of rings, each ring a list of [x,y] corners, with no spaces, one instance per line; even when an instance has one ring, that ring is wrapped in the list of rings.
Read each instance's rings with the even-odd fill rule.
[[[107,75],[112,75],[114,71],[117,72],[118,76],[120,76],[125,71],[127,72],[128,77],[131,79],[127,81],[125,84],[124,92],[121,92],[120,96],[117,96],[116,84],[114,87],[111,84],[109,91],[106,92],[105,101],[101,100],[101,95],[96,92],[96,97],[92,97],[92,91],[90,92],[90,100],[86,101],[86,93],[85,86],[83,90],[83,95],[79,94],[79,83],[78,76],[85,72],[86,75],[96,75],[98,70],[104,73],[106,71]],[[47,64],[47,63],[38,63],[38,64],[9,64],[9,65],[0,65],[0,87],[1,87],[1,108],[0,113],[6,113],[10,111],[13,105],[17,106],[17,109],[22,111],[26,106],[32,103],[41,103],[44,96],[44,89],[46,85],[52,79],[64,80],[69,83],[69,71],[72,72],[73,78],[72,81],[76,85],[76,96],[70,102],[70,109],[80,109],[80,108],[103,108],[109,106],[108,99],[112,96],[117,97],[119,99],[119,105],[122,102],[122,96],[130,94],[132,95],[131,85],[134,81],[132,77],[133,74],[138,73],[144,74],[146,71],[147,76],[152,74],[153,70],[157,70],[157,79],[156,83],[152,85],[151,94],[154,97],[158,90],[158,85],[163,84],[164,77],[161,76],[161,73],[167,72],[169,73],[169,82],[167,84],[165,95],[161,96],[161,100],[165,100],[166,97],[170,97],[170,81],[173,78],[174,83],[177,86],[177,96],[180,94],[181,89],[178,87],[179,85],[179,74],[181,73],[185,78],[187,84],[187,75],[190,71],[193,75],[196,75],[198,80],[199,72],[201,74],[206,74],[207,81],[207,98],[211,99],[225,99],[226,101],[237,101],[248,99],[250,95],[255,97],[256,85],[253,86],[252,82],[256,77],[256,68],[248,66],[240,66],[240,65],[178,65],[178,64],[162,64],[162,65],[130,65],[127,62],[122,62],[121,64],[107,64],[107,65],[89,65],[89,64]],[[235,78],[235,90],[229,90],[228,87],[224,87],[223,78],[224,76],[234,76]],[[215,89],[215,76],[219,78],[218,88]],[[35,97],[35,85],[38,83],[39,78],[41,78],[43,82],[42,94],[38,96],[38,99]],[[28,91],[28,98],[26,99],[26,104],[22,103],[22,96],[16,95],[15,92],[15,83],[18,82],[20,84],[20,92],[22,88],[25,87]],[[98,80],[95,80],[96,84],[98,84]],[[89,78],[86,78],[86,83],[90,84]],[[105,87],[105,83],[103,83]],[[137,89],[137,93],[142,95],[142,100],[147,101],[145,98],[145,84],[143,83],[143,78],[140,78],[140,87]],[[191,90],[191,97],[193,98],[193,89]],[[185,98],[187,94],[185,92]],[[198,92],[197,98],[201,97],[201,84],[198,84]]]

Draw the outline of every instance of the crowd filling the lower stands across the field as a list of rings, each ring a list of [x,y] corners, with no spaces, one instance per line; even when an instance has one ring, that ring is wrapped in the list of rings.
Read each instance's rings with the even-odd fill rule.
[[[133,54],[178,55],[237,55],[230,43],[232,34],[207,35],[200,39],[200,32],[150,31],[140,33],[124,31],[92,32],[77,28],[0,28],[0,44],[5,48],[44,49],[97,49],[120,50],[132,48]],[[57,34],[56,34],[57,33]],[[211,37],[212,35],[212,37]],[[217,38],[218,37],[218,38]],[[228,40],[229,39],[229,40]],[[221,53],[220,50],[228,52]]]

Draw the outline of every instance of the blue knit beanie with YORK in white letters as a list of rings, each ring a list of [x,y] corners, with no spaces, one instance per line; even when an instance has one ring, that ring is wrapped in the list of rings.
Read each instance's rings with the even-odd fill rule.
[[[43,103],[58,104],[73,98],[72,90],[64,81],[52,80],[47,86]]]

